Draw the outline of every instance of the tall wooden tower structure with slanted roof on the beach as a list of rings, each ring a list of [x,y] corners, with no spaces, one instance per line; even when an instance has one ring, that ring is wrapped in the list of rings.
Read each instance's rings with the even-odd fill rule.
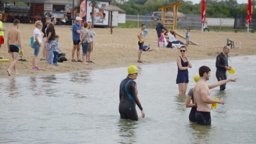
[[[178,14],[178,6],[182,5],[182,2],[176,2],[173,4],[169,4],[163,7],[158,8],[158,10],[161,10],[161,21],[162,24],[166,27],[169,28],[171,30],[173,30],[175,32],[176,28],[177,28],[177,14]],[[173,8],[173,18],[166,18],[166,10],[169,8]],[[165,35],[167,34],[167,32],[165,32]],[[183,39],[186,39],[184,36],[182,36],[181,34],[175,32],[175,34],[177,36],[180,36]],[[190,40],[192,45],[198,45],[195,42],[193,42],[192,40]]]

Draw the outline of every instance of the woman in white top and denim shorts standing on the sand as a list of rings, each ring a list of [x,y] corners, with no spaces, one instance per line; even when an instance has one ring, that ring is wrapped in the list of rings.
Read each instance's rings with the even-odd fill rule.
[[[39,54],[39,51],[40,51],[40,46],[42,44],[42,34],[40,32],[39,29],[41,29],[43,26],[43,23],[38,20],[36,21],[35,23],[35,29],[34,29],[34,32],[33,32],[33,36],[34,36],[34,43],[33,43],[33,47],[34,47],[34,57],[33,57],[33,67],[32,69],[36,70],[36,71],[39,71],[40,69],[37,67],[37,55]]]

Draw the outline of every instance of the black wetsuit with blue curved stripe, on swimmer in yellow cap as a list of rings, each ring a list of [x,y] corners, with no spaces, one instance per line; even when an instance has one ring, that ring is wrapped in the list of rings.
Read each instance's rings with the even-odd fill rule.
[[[120,118],[138,120],[136,104],[140,110],[143,110],[143,108],[137,97],[137,85],[135,81],[127,77],[121,82],[119,100]]]

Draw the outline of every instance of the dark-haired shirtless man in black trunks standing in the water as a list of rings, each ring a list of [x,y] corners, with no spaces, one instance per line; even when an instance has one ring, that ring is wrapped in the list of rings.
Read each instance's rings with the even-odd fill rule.
[[[200,125],[210,125],[211,118],[210,118],[210,109],[211,104],[225,103],[224,99],[214,100],[210,98],[210,90],[206,81],[209,80],[210,77],[210,68],[207,66],[201,66],[199,68],[199,75],[200,79],[195,84],[193,88],[194,93],[194,102],[197,105],[197,112],[195,114],[196,123]]]

